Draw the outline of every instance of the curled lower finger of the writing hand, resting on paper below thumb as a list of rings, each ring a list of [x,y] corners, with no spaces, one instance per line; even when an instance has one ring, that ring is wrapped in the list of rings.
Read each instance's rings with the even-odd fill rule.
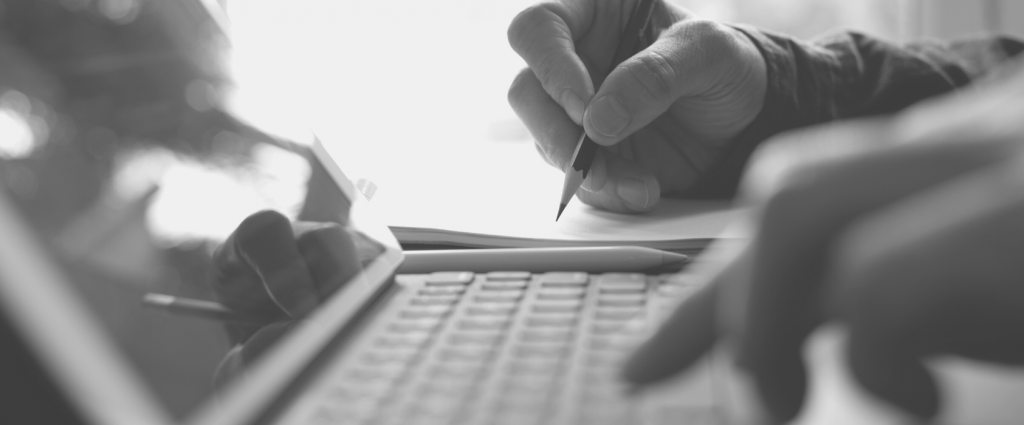
[[[662,188],[650,170],[602,147],[594,156],[577,197],[604,210],[641,213],[654,209]]]

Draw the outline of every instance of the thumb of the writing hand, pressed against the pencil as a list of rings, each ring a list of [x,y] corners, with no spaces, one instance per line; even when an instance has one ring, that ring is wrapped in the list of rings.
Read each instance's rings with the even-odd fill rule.
[[[706,20],[670,27],[608,74],[584,113],[584,128],[603,145],[650,124],[677,99],[711,89],[721,65],[739,60],[736,30]]]

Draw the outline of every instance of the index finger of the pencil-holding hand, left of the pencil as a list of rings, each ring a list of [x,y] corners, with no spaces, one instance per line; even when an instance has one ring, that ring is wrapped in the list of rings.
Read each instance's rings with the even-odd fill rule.
[[[577,124],[594,96],[594,82],[574,40],[590,28],[594,10],[591,0],[539,3],[516,15],[508,30],[512,50]]]

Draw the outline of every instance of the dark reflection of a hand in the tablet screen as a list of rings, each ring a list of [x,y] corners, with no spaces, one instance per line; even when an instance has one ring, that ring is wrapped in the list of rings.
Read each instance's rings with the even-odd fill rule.
[[[214,254],[211,286],[221,303],[260,317],[229,325],[232,349],[217,381],[242,370],[362,269],[373,248],[335,223],[291,222],[275,211],[246,218]]]

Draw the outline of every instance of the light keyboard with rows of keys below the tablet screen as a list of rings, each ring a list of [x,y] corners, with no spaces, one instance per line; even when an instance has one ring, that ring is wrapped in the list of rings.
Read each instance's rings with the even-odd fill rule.
[[[696,288],[685,275],[397,279],[406,295],[325,373],[303,423],[718,423],[710,380],[656,412],[617,380],[635,345]]]

